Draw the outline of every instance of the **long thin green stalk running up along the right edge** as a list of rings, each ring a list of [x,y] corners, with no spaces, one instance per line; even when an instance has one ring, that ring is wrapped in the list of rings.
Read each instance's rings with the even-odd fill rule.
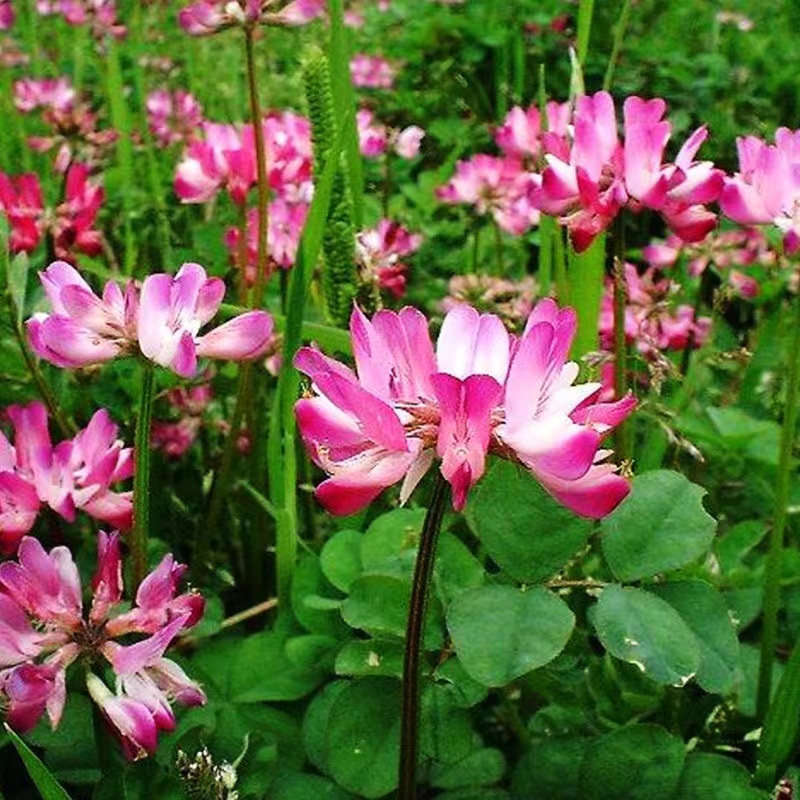
[[[769,539],[767,567],[764,573],[764,622],[761,635],[761,662],[758,670],[756,713],[763,720],[769,708],[772,688],[772,665],[778,637],[778,611],[781,601],[781,567],[783,542],[786,531],[789,487],[792,479],[792,450],[797,429],[798,378],[800,378],[800,296],[794,298],[794,322],[789,345],[787,372],[786,411],[781,430],[781,453],[775,483],[775,521]]]

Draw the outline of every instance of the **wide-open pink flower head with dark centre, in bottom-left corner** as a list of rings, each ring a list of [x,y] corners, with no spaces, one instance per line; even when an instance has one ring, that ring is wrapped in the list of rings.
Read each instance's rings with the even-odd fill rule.
[[[87,673],[92,699],[120,738],[130,760],[155,752],[159,730],[172,730],[172,703],[199,705],[202,689],[164,658],[172,640],[203,613],[199,595],[176,596],[183,567],[172,556],[142,582],[134,607],[114,616],[123,596],[116,533],[98,534],[93,597],[83,613],[81,583],[65,547],[47,553],[38,540],[22,539],[18,562],[0,564],[0,699],[10,725],[30,730],[43,714],[55,729],[66,701],[67,669],[78,659],[103,658],[116,676],[116,691]],[[116,638],[139,634],[132,644]],[[144,635],[144,638],[142,638]]]

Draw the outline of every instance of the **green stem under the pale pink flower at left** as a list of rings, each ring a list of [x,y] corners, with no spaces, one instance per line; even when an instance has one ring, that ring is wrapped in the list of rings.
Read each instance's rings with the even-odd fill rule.
[[[150,427],[153,419],[155,369],[150,361],[142,363],[142,386],[139,416],[133,442],[133,557],[134,591],[147,574],[147,535],[150,530]]]

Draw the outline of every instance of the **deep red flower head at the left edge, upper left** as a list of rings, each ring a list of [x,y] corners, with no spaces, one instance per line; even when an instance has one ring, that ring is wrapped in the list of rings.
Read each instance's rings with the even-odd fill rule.
[[[75,260],[75,253],[96,256],[102,234],[96,230],[103,189],[89,180],[89,168],[74,163],[64,182],[64,202],[45,209],[39,178],[32,173],[10,177],[0,172],[0,208],[11,226],[11,252],[31,253],[42,237],[52,238],[58,258]]]

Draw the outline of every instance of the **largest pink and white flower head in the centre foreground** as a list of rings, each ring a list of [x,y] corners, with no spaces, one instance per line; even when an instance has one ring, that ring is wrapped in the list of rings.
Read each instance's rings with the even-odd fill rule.
[[[575,328],[574,311],[550,299],[519,339],[498,317],[458,306],[434,352],[419,311],[380,311],[370,322],[354,310],[357,373],[313,348],[295,359],[315,391],[296,405],[300,432],[331,476],[317,498],[350,514],[402,480],[405,501],[438,455],[461,509],[494,452],[524,465],[576,513],[608,514],[629,484],[600,445],[635,401],[598,403],[600,384],[573,386],[578,365],[566,358]]]

